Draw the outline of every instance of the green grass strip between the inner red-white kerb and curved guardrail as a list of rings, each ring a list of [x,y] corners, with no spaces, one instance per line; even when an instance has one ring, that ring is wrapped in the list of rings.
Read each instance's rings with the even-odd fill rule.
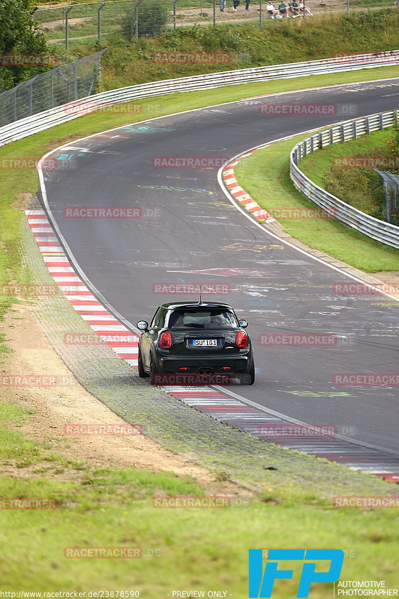
[[[274,211],[287,208],[316,210],[316,214],[322,212],[313,202],[307,200],[296,190],[290,179],[290,150],[304,137],[306,136],[298,135],[290,140],[258,150],[235,168],[239,184],[262,208],[271,214]],[[329,149],[330,159],[336,148],[337,146],[333,146]],[[312,158],[309,158],[314,169],[318,168],[316,167],[318,161],[325,164],[325,151],[327,150],[316,152]],[[273,165],[273,170],[267,168],[267,165],[270,164]],[[306,164],[306,162],[301,164]],[[308,171],[306,173],[308,174]],[[311,175],[312,173],[309,172],[309,176]],[[279,217],[279,214],[281,213],[276,212],[285,231],[310,247],[326,252],[367,273],[399,270],[398,250],[368,239],[365,235],[342,225],[333,218],[284,219]]]

